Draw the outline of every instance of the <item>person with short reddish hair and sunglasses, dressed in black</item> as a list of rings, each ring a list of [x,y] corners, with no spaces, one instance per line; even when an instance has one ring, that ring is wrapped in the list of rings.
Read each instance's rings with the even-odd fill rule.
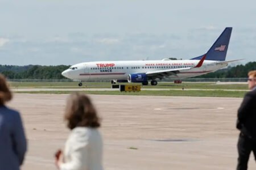
[[[256,70],[248,73],[247,92],[237,114],[237,129],[240,130],[238,139],[237,170],[247,169],[251,151],[256,160]]]

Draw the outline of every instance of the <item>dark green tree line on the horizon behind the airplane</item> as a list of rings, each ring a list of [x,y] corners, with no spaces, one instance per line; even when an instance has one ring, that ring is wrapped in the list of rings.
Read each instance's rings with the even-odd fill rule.
[[[0,73],[9,79],[66,79],[61,75],[61,72],[68,69],[70,66],[12,66],[0,65]],[[250,70],[256,70],[256,62],[248,62],[245,65],[237,65],[227,67],[226,69],[218,70],[214,73],[209,73],[197,78],[246,78]]]

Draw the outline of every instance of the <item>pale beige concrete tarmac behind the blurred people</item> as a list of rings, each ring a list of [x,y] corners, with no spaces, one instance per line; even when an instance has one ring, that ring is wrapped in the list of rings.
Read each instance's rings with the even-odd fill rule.
[[[14,94],[28,152],[22,169],[56,169],[53,154],[69,130],[68,95]],[[89,95],[102,118],[104,168],[235,169],[237,108],[242,98]],[[256,169],[251,155],[249,169]]]

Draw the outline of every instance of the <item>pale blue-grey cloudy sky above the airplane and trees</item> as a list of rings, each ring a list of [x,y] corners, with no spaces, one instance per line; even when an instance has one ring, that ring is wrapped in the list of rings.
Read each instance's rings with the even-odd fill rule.
[[[0,0],[0,64],[190,59],[233,27],[226,59],[256,61],[256,1]]]

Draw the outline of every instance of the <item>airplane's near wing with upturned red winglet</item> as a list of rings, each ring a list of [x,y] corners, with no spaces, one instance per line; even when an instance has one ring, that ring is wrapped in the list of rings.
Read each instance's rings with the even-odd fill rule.
[[[201,67],[203,65],[204,59],[205,59],[206,55],[204,55],[204,57],[202,57],[199,61],[199,63],[197,63],[197,65],[195,67],[186,67],[186,68],[177,68],[177,69],[168,69],[168,70],[158,70],[158,71],[148,71],[146,73],[146,75],[151,78],[151,79],[163,79],[165,76],[168,77],[170,75],[174,75],[177,76],[178,73],[180,73],[181,70],[191,70],[193,68],[198,68]]]

